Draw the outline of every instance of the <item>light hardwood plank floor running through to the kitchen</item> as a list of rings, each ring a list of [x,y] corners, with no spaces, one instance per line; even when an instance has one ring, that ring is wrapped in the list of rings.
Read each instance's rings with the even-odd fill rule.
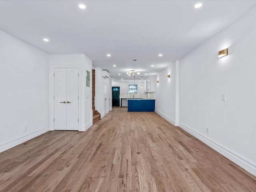
[[[154,112],[113,108],[0,153],[0,192],[52,191],[256,192],[256,177]]]

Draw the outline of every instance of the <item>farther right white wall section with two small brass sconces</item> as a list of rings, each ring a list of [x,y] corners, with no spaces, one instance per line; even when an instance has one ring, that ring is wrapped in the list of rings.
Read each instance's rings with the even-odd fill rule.
[[[170,75],[170,78],[167,78]],[[155,112],[166,120],[176,122],[176,63],[172,63],[156,76]]]

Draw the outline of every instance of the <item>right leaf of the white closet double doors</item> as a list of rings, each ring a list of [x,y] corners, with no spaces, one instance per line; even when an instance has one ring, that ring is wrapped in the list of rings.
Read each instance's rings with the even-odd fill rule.
[[[78,68],[67,69],[67,130],[78,130]]]

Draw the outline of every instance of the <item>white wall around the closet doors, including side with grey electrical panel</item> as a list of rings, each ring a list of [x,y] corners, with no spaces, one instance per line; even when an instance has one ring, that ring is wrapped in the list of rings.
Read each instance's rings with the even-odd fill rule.
[[[78,67],[79,72],[79,105],[80,107],[80,131],[85,131],[92,126],[92,60],[85,54],[52,54],[49,56],[50,74],[54,73],[54,67]],[[86,70],[90,71],[90,87],[86,86]],[[50,130],[53,129],[53,75],[50,75]],[[88,95],[88,98],[86,97]]]

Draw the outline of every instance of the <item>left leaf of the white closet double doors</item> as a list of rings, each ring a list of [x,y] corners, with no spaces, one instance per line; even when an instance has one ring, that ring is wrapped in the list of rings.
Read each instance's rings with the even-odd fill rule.
[[[66,130],[66,79],[66,69],[54,69],[54,130]]]

